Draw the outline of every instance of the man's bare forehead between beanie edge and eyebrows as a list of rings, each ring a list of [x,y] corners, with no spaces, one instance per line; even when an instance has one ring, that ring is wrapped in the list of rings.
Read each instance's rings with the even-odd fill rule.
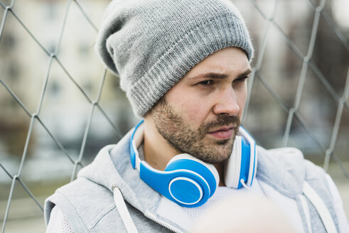
[[[209,55],[189,70],[182,79],[207,72],[218,72],[225,75],[240,75],[249,70],[249,61],[246,53],[240,48],[229,47],[218,50]]]

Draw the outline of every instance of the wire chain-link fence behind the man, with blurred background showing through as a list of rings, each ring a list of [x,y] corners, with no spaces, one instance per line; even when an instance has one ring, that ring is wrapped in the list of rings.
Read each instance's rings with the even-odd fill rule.
[[[348,203],[348,2],[234,3],[257,54],[243,124],[266,148],[300,148],[346,185]],[[93,51],[107,4],[0,1],[2,232],[28,232],[6,228],[25,222],[15,201],[19,212],[31,203],[43,231],[44,198],[139,120]]]

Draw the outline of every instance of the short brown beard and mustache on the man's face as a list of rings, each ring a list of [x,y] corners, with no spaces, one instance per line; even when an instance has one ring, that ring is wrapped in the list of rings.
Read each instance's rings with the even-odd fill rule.
[[[215,120],[204,122],[198,129],[193,129],[164,98],[159,100],[152,111],[156,129],[177,151],[189,153],[206,163],[220,163],[230,157],[240,126],[238,116],[217,114]],[[206,137],[210,130],[231,124],[237,127],[229,139],[215,140]]]

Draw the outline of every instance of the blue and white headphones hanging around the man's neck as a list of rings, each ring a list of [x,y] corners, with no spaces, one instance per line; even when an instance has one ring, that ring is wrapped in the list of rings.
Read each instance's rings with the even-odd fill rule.
[[[137,124],[131,136],[129,152],[132,167],[139,170],[139,177],[151,188],[183,207],[203,205],[218,188],[220,178],[215,166],[200,161],[188,153],[171,158],[165,170],[156,170],[141,161],[137,147],[143,141],[143,120]],[[256,143],[240,126],[235,137],[230,158],[225,163],[225,185],[240,188],[242,183],[252,185],[257,169]]]

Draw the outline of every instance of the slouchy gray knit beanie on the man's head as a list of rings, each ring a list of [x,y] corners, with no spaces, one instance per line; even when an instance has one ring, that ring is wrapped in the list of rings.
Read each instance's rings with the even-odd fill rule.
[[[228,0],[115,0],[96,43],[137,116],[201,60],[232,46],[252,59],[243,18]]]

